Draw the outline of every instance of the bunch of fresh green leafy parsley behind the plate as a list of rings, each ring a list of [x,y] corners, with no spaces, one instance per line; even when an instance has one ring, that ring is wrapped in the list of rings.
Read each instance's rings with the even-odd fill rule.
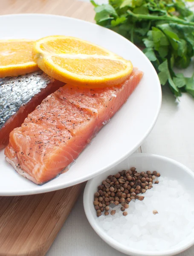
[[[123,35],[139,47],[155,67],[162,85],[175,96],[194,97],[194,76],[175,74],[194,56],[194,13],[183,0],[109,0],[94,6],[98,25]]]

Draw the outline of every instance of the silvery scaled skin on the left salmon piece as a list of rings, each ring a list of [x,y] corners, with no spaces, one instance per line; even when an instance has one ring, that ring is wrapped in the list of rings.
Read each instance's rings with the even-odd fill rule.
[[[0,78],[0,128],[22,105],[53,81],[41,70],[17,77]]]

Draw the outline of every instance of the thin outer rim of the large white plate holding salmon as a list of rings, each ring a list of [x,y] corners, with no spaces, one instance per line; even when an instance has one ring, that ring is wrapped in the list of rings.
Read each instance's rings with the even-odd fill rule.
[[[24,16],[24,17],[25,16],[26,17],[28,17],[28,16],[39,16],[39,17],[45,16],[45,17],[63,18],[63,19],[67,19],[67,20],[70,19],[70,20],[75,20],[75,21],[79,21],[79,22],[82,22],[82,23],[87,23],[87,24],[90,24],[92,26],[100,27],[101,29],[107,30],[107,28],[99,26],[99,25],[97,25],[95,23],[92,23],[90,21],[81,20],[81,19],[78,19],[78,18],[63,16],[63,15],[42,14],[42,13],[17,13],[17,14],[0,15],[0,18],[1,17],[18,17],[18,16]],[[110,30],[110,29],[108,29],[108,30],[109,30],[110,33],[116,34],[116,36],[121,37],[122,40],[127,41],[127,43],[133,44],[132,42],[130,42],[127,38],[123,37],[122,35],[119,35],[118,33],[114,32],[113,30]],[[133,47],[135,47],[137,51],[139,51],[139,52],[141,52],[141,54],[143,54],[143,52],[135,44],[133,44]],[[144,55],[144,58],[147,58],[147,60],[149,61],[149,59],[146,55]],[[151,61],[149,61],[149,62],[151,64]],[[151,66],[153,67],[152,64],[151,64]],[[154,67],[153,67],[153,73],[156,76],[156,80],[157,80],[156,86],[158,86],[158,89],[159,89],[159,94],[158,94],[158,96],[159,96],[158,100],[159,101],[158,101],[156,113],[155,113],[155,116],[153,118],[153,121],[151,122],[151,125],[150,125],[149,129],[145,132],[145,135],[139,141],[139,143],[136,143],[136,146],[133,147],[133,150],[127,151],[127,153],[125,155],[123,155],[121,158],[119,158],[119,160],[113,161],[108,167],[105,166],[104,168],[101,169],[100,172],[98,171],[96,173],[92,173],[90,175],[87,175],[87,177],[78,178],[77,180],[74,180],[73,182],[69,181],[68,183],[65,183],[65,185],[58,184],[58,185],[53,185],[53,186],[49,186],[49,187],[45,187],[45,188],[43,188],[43,185],[42,185],[42,186],[38,186],[37,189],[25,189],[25,190],[19,190],[17,192],[14,192],[14,191],[11,191],[11,190],[9,192],[3,192],[3,191],[0,190],[0,196],[35,195],[35,194],[41,194],[41,193],[46,193],[46,192],[57,191],[57,190],[60,190],[60,189],[65,189],[69,186],[74,186],[76,184],[83,183],[87,180],[90,180],[93,177],[96,177],[97,175],[100,175],[103,172],[106,172],[108,169],[111,169],[113,166],[121,163],[123,160],[125,160],[127,157],[129,157],[131,154],[133,154],[133,152],[135,152],[137,150],[137,148],[139,148],[139,146],[142,145],[144,140],[151,133],[151,131],[152,131],[154,125],[156,124],[157,119],[158,119],[160,108],[161,108],[161,105],[162,105],[162,88],[161,88],[161,84],[160,84],[160,81],[159,81],[159,77],[158,77]],[[3,148],[3,150],[4,150],[4,148]],[[40,189],[40,187],[42,189]]]

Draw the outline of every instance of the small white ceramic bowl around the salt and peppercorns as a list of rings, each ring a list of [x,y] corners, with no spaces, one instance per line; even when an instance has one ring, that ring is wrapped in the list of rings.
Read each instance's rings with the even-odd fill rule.
[[[141,248],[136,250],[120,244],[118,241],[108,236],[107,233],[98,226],[96,221],[96,210],[93,205],[93,197],[94,193],[97,191],[98,185],[101,184],[101,181],[106,179],[108,175],[116,174],[116,172],[122,171],[123,169],[129,169],[132,166],[135,166],[138,169],[138,172],[156,170],[157,172],[160,172],[161,176],[175,178],[182,183],[182,186],[189,190],[191,195],[194,195],[194,173],[186,166],[167,157],[143,153],[132,154],[122,163],[119,163],[107,172],[104,172],[87,182],[84,190],[84,210],[88,221],[98,236],[116,250],[130,256],[172,256],[191,247],[194,244],[194,237],[189,236],[188,239],[184,239],[185,243],[182,243],[182,245],[178,244],[177,247],[174,247],[173,249],[156,252],[144,251],[143,249],[141,250]]]

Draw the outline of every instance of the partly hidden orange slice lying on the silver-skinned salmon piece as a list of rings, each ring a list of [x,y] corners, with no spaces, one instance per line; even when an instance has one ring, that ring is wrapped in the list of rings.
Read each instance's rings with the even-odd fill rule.
[[[0,40],[0,77],[18,76],[39,70],[32,59],[34,42],[28,39]]]

